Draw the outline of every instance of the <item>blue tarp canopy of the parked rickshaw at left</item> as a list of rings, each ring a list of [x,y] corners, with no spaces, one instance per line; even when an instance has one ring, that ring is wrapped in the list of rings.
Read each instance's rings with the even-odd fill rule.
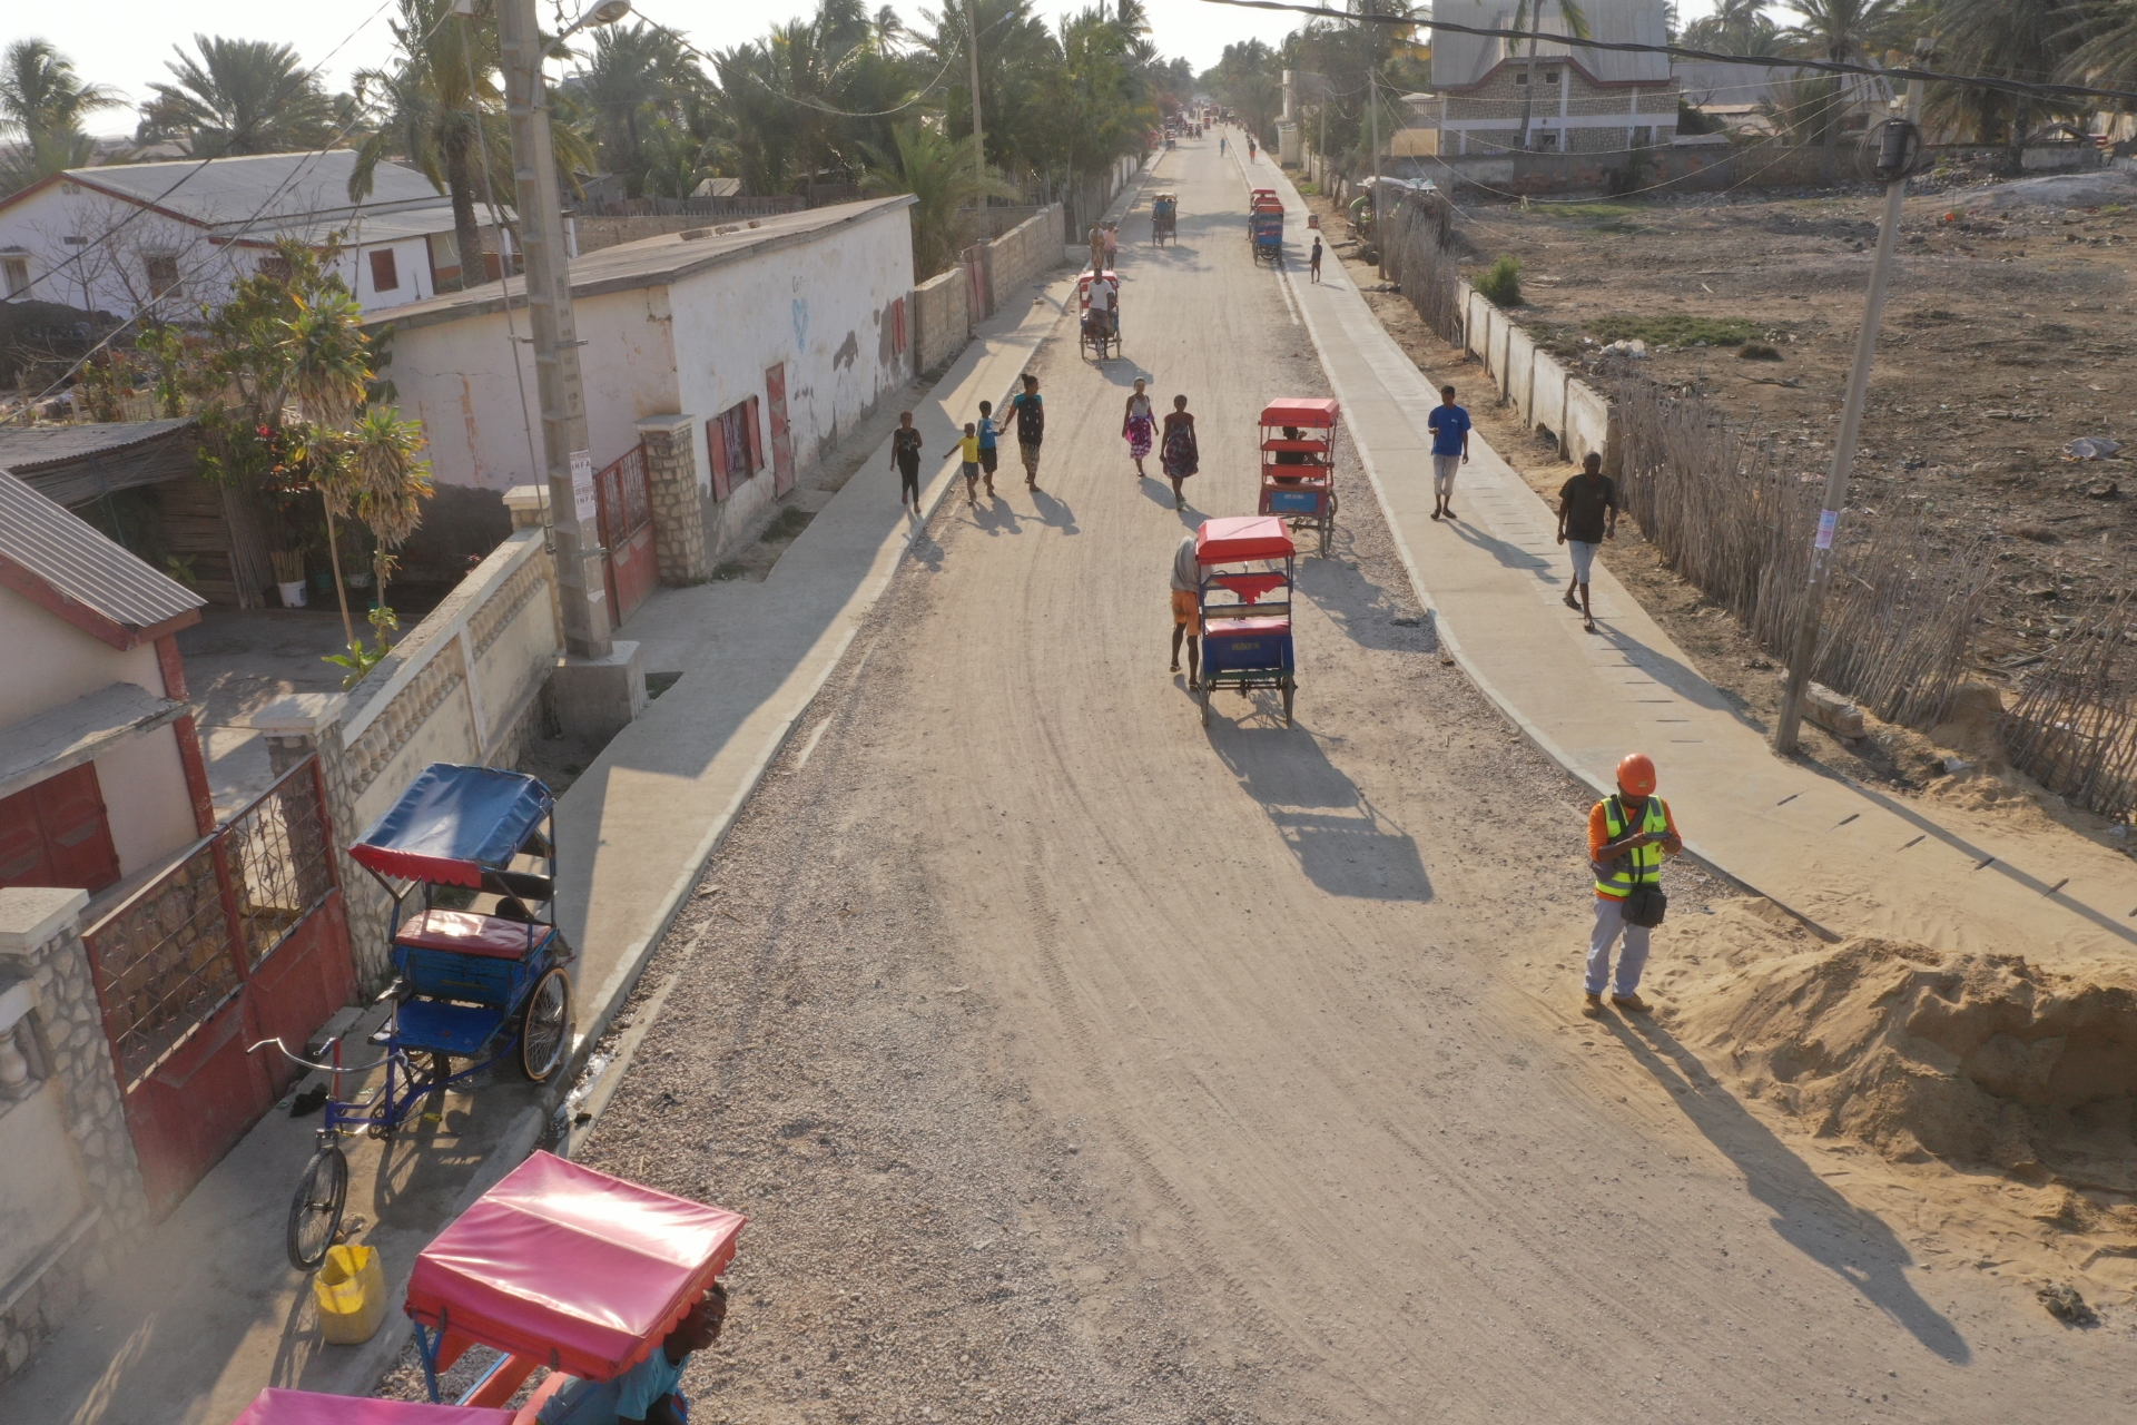
[[[348,855],[380,876],[481,887],[485,870],[511,865],[551,805],[536,778],[432,763]]]

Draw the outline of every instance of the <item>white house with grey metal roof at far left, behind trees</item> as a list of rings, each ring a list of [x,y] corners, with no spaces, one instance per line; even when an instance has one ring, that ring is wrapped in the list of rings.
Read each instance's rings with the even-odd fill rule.
[[[0,295],[182,320],[224,301],[278,237],[329,233],[344,235],[342,280],[365,312],[455,282],[447,199],[415,169],[383,162],[370,197],[350,203],[355,162],[331,150],[56,173],[0,201]]]

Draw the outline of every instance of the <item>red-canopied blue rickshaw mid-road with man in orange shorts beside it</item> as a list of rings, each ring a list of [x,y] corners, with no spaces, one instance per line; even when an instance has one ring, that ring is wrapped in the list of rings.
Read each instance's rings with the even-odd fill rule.
[[[1284,701],[1284,726],[1291,726],[1297,553],[1291,530],[1274,515],[1205,519],[1195,530],[1203,726],[1210,726],[1210,694],[1218,688],[1242,694],[1274,688]]]

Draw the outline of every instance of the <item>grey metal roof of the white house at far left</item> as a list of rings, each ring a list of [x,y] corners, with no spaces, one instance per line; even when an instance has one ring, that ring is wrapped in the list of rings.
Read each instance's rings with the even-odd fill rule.
[[[244,224],[265,203],[263,222],[286,226],[303,218],[346,216],[348,175],[357,167],[353,150],[325,154],[246,154],[212,162],[118,162],[96,169],[68,169],[66,177],[85,188],[103,188],[137,203],[154,203],[165,212],[209,226]],[[199,169],[194,173],[194,169]],[[190,175],[190,177],[188,177]],[[177,179],[186,179],[180,184]],[[173,184],[177,184],[173,188]],[[438,203],[438,190],[415,169],[395,162],[378,165],[372,192],[363,207],[408,207]]]

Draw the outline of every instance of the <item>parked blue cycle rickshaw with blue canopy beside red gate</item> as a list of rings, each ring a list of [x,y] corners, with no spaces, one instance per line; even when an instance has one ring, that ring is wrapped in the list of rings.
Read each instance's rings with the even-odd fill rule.
[[[543,1083],[571,1047],[575,953],[556,927],[547,786],[517,771],[432,763],[348,859],[393,899],[393,983],[380,996],[391,1008],[370,1036],[385,1051],[376,1062],[344,1066],[336,1038],[331,1062],[312,1064],[333,1079],[318,1152],[288,1209],[288,1260],[299,1271],[316,1269],[340,1231],[344,1134],[387,1139],[425,1098],[502,1062]],[[385,1068],[378,1087],[344,1100],[342,1075],[372,1068]]]

